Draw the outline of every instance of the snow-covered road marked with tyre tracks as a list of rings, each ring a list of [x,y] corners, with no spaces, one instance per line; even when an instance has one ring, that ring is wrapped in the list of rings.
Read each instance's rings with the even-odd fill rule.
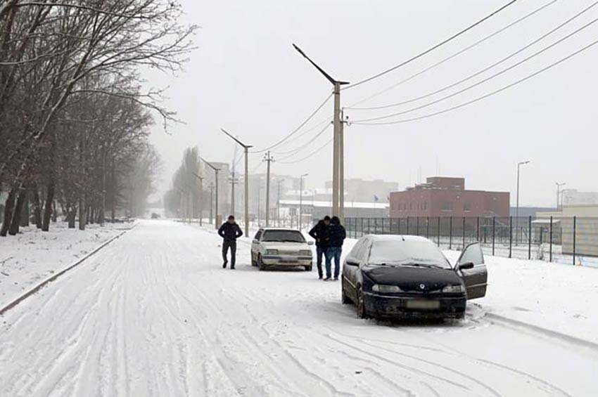
[[[248,240],[145,221],[0,318],[0,396],[597,396],[598,350],[492,323],[358,320]],[[590,309],[588,309],[590,311]],[[598,332],[598,331],[597,331]]]

